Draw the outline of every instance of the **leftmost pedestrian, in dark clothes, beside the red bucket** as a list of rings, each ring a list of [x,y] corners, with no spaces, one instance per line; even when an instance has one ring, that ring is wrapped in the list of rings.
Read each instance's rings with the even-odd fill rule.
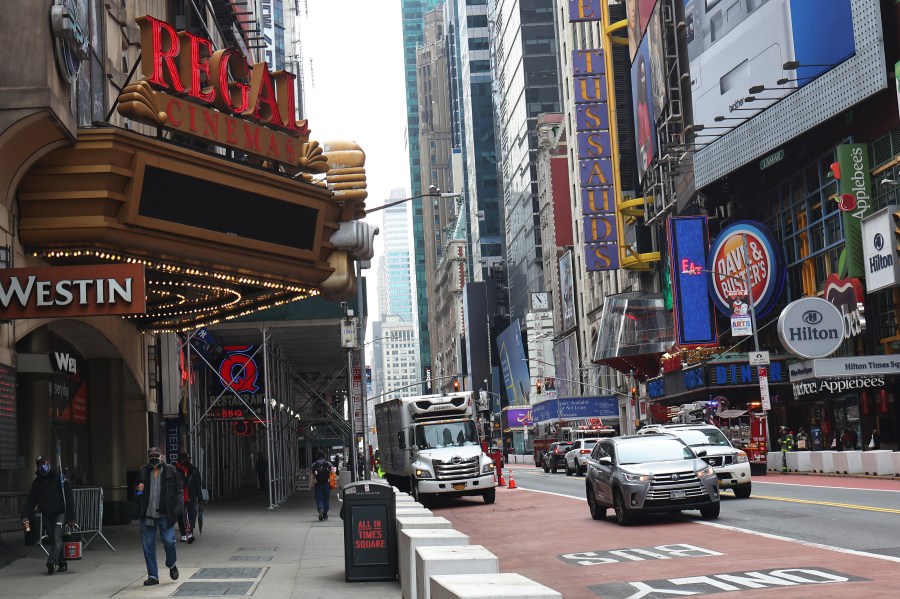
[[[75,497],[72,493],[72,485],[63,479],[56,468],[50,467],[50,462],[42,456],[34,461],[37,465],[34,482],[31,483],[31,491],[22,508],[22,524],[28,521],[37,505],[43,514],[44,529],[47,536],[53,540],[53,547],[47,557],[47,574],[54,571],[65,572],[69,569],[66,563],[66,554],[63,551],[62,533],[66,522],[75,522]]]

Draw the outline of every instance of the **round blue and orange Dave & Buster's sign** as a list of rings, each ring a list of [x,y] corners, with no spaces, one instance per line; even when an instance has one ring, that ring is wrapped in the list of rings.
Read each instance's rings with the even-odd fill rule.
[[[743,237],[747,237],[744,264]],[[738,221],[724,228],[712,243],[707,260],[709,295],[719,312],[731,315],[732,297],[750,280],[756,316],[768,314],[781,295],[786,276],[775,238],[763,225]]]

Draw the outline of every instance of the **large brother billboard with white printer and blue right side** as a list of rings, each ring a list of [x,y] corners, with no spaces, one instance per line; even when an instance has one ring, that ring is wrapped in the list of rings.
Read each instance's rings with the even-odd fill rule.
[[[751,87],[777,99],[853,56],[850,2],[684,0],[694,123],[749,118],[773,101],[748,102]]]

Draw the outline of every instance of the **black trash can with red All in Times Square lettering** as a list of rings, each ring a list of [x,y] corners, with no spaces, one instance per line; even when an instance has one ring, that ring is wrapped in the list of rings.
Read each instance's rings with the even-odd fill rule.
[[[347,582],[397,580],[397,500],[382,480],[341,489],[344,504],[344,577]]]

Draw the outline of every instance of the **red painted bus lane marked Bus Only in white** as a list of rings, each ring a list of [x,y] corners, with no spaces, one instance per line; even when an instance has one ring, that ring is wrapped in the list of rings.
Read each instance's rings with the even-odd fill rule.
[[[846,599],[885,596],[900,587],[900,558],[707,526],[696,512],[621,527],[611,510],[606,521],[592,520],[579,498],[501,488],[493,505],[438,504],[435,514],[496,554],[501,571],[566,598],[729,593]]]

